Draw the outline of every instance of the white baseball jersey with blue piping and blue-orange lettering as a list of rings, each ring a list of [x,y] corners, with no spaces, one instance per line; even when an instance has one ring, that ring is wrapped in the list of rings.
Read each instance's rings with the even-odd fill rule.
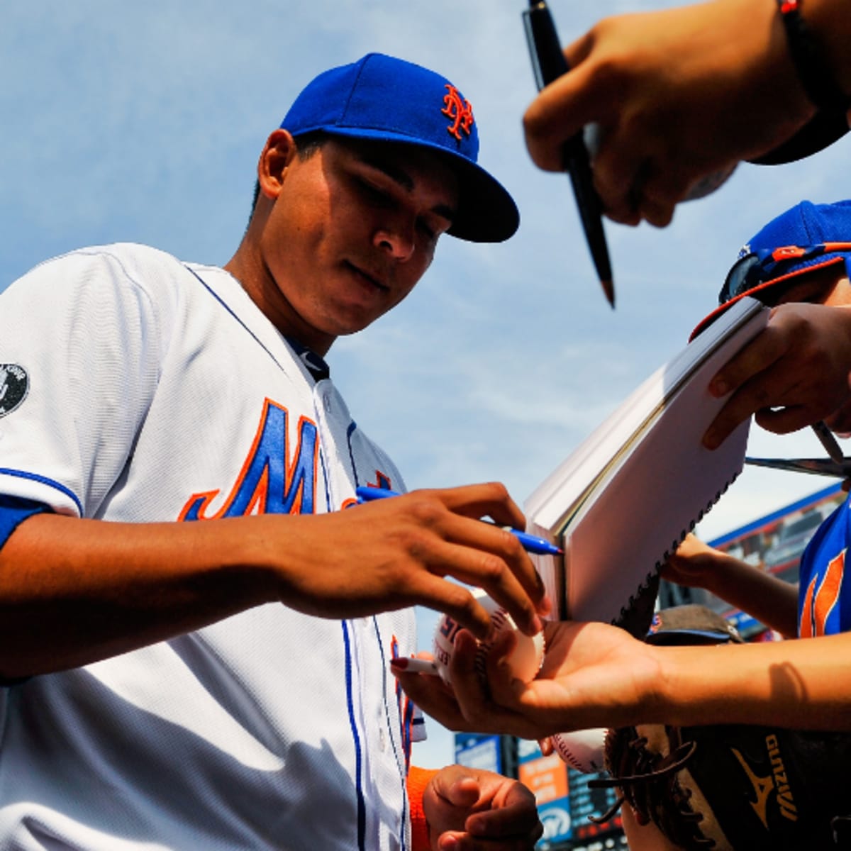
[[[0,364],[0,494],[57,512],[203,523],[403,488],[218,268],[135,245],[49,260],[0,295]],[[269,604],[0,688],[0,848],[409,848],[421,719],[388,661],[413,652],[409,610]]]

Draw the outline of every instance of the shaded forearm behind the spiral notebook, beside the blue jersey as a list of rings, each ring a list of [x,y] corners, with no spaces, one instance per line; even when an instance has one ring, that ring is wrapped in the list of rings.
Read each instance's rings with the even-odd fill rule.
[[[718,553],[706,588],[785,637],[797,635],[797,587],[738,558]]]

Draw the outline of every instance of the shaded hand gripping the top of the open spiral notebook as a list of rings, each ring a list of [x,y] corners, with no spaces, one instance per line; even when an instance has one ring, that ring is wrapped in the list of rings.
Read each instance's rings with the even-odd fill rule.
[[[828,420],[851,400],[851,307],[790,303],[775,307],[768,326],[711,380],[717,397],[729,391],[703,443],[714,449],[740,422],[775,434]]]

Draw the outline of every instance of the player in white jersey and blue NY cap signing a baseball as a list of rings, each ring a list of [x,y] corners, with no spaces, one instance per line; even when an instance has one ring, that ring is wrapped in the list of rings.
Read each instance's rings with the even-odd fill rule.
[[[477,634],[481,585],[547,603],[496,484],[404,489],[324,359],[390,310],[444,233],[517,208],[469,101],[369,54],[266,141],[224,268],[140,245],[48,260],[0,297],[0,847],[531,848],[534,797],[408,771],[388,673],[414,603]]]

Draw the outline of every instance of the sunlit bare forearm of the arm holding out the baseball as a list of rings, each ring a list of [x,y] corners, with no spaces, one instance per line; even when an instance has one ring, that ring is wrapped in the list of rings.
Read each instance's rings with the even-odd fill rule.
[[[851,730],[851,633],[657,653],[660,711],[649,720]]]

